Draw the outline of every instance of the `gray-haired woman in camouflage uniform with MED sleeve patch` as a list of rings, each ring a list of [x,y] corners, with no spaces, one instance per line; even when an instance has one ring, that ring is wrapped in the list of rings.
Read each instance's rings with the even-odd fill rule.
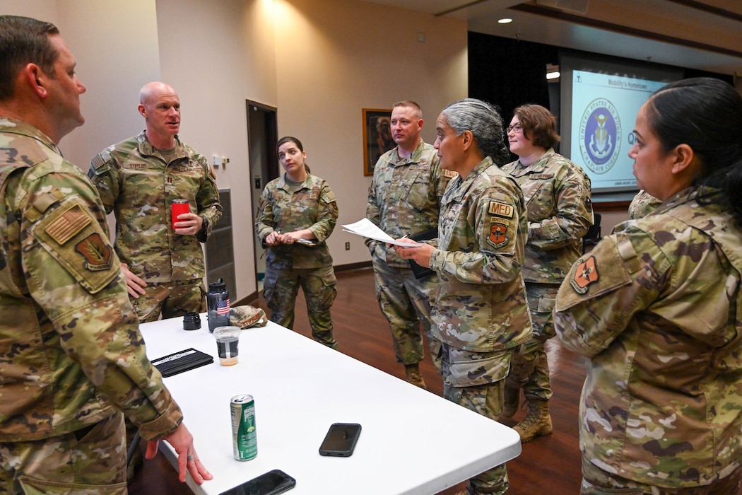
[[[502,118],[492,105],[463,99],[436,120],[441,167],[458,172],[441,200],[439,238],[396,247],[430,266],[440,286],[431,318],[441,341],[444,397],[490,419],[503,408],[513,350],[531,336],[521,267],[528,237],[518,184],[508,161]],[[508,490],[505,465],[469,480],[468,494]]]

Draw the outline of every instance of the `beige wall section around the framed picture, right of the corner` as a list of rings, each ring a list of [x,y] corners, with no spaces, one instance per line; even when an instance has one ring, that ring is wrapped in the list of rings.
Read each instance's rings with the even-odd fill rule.
[[[335,264],[369,260],[361,237],[341,228],[366,214],[361,110],[413,99],[432,143],[439,111],[467,96],[466,23],[364,1],[276,0],[275,36],[278,133],[301,140],[338,197]]]

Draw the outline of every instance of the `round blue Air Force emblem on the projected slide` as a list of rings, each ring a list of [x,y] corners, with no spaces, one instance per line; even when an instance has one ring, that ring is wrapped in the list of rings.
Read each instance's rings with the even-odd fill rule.
[[[621,120],[616,108],[608,99],[594,99],[580,120],[583,163],[596,174],[605,174],[616,163],[620,148]]]

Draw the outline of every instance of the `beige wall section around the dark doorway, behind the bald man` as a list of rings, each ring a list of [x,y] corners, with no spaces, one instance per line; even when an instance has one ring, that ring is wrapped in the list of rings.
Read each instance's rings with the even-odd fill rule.
[[[157,0],[157,26],[162,79],[180,96],[180,136],[210,162],[229,157],[214,173],[232,191],[238,301],[257,290],[246,99],[278,100],[272,1]]]

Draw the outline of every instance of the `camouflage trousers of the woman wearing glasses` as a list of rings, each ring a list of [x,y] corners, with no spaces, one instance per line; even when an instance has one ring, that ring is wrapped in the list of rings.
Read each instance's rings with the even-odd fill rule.
[[[545,344],[556,335],[551,311],[554,309],[557,292],[558,285],[525,284],[528,309],[533,321],[533,336],[514,353],[507,384],[509,388],[522,388],[526,399],[551,399],[551,378]]]

